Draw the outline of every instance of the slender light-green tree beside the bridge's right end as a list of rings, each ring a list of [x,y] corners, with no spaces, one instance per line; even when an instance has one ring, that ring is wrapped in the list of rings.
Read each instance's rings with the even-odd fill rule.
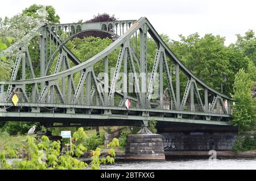
[[[256,112],[251,96],[251,79],[245,70],[241,69],[235,76],[233,98],[236,101],[232,123],[239,132],[255,127]]]

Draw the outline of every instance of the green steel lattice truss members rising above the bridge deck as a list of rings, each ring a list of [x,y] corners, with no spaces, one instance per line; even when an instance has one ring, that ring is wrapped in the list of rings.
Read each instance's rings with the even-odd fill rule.
[[[123,31],[123,23],[127,23],[129,24],[129,29],[127,28],[127,31],[124,32]],[[114,24],[114,27],[116,28],[116,33],[117,31],[117,27],[119,25],[120,28],[120,37],[115,40],[111,45],[109,45],[109,47],[107,47],[106,49],[102,50],[102,52],[96,54],[96,56],[93,56],[92,58],[89,58],[89,60],[86,60],[84,62],[80,61],[67,47],[65,47],[65,43],[67,43],[68,40],[72,39],[72,37],[75,37],[79,32],[86,32],[86,31],[91,31],[91,30],[100,30],[100,31],[105,31],[102,30],[102,27],[104,27],[103,25],[105,24],[105,26],[107,26],[106,28],[106,32],[109,31],[109,33],[112,33],[112,35],[114,35],[114,33],[112,32],[112,30],[110,31],[110,28],[108,27],[108,24]],[[133,26],[130,27],[130,25],[133,24]],[[58,35],[58,32],[53,32],[52,31],[52,27],[55,27],[56,30],[62,30],[62,32],[65,30],[67,30],[68,28],[71,27],[75,27],[75,33],[73,33],[73,35],[70,35],[71,33],[69,32],[69,36],[68,37],[62,37],[61,40],[61,33],[60,35]],[[81,30],[79,32],[76,32],[77,27],[81,28]],[[212,87],[209,87],[208,85],[206,85],[203,81],[201,81],[199,78],[197,78],[194,74],[191,73],[191,71],[189,71],[178,59],[177,57],[174,55],[174,53],[172,53],[172,51],[168,48],[168,46],[163,42],[163,40],[160,38],[160,36],[158,35],[158,33],[156,33],[156,31],[154,30],[154,27],[152,27],[152,25],[150,24],[150,22],[148,22],[147,18],[140,18],[139,20],[137,20],[137,22],[133,21],[133,20],[127,20],[127,21],[118,21],[118,22],[108,22],[108,23],[93,23],[93,24],[87,24],[88,27],[86,27],[86,23],[76,23],[76,24],[59,24],[59,25],[53,25],[53,26],[48,26],[46,24],[42,24],[40,27],[37,27],[36,31],[40,32],[42,34],[41,36],[41,62],[43,61],[43,63],[41,64],[42,68],[41,68],[41,75],[42,77],[39,78],[35,78],[35,74],[34,74],[34,70],[32,70],[32,64],[31,64],[31,60],[30,60],[30,56],[27,50],[27,44],[21,44],[21,43],[16,43],[15,46],[20,46],[20,47],[25,47],[25,51],[24,54],[27,56],[27,64],[28,67],[30,67],[30,74],[31,74],[31,79],[26,79],[26,77],[23,76],[23,80],[17,81],[16,79],[16,74],[18,71],[18,67],[20,62],[22,61],[22,57],[18,57],[15,63],[15,67],[14,67],[14,71],[11,77],[11,81],[0,81],[0,85],[8,85],[9,89],[7,90],[7,93],[9,96],[7,96],[7,100],[9,99],[11,92],[14,91],[14,87],[15,89],[17,87],[23,87],[23,92],[26,95],[25,89],[24,87],[26,85],[32,85],[32,87],[34,87],[34,92],[38,92],[38,89],[35,88],[37,87],[38,83],[41,83],[42,86],[42,91],[40,92],[40,98],[39,98],[39,103],[40,101],[48,94],[48,90],[50,90],[50,94],[53,94],[54,89],[56,90],[57,94],[60,95],[60,98],[63,100],[63,104],[65,104],[64,100],[65,100],[65,78],[68,78],[68,97],[71,97],[71,90],[73,90],[73,99],[72,99],[72,103],[75,104],[77,102],[77,100],[79,99],[79,96],[81,96],[81,99],[83,99],[83,94],[84,92],[82,91],[82,87],[84,86],[84,82],[85,79],[88,79],[88,83],[86,83],[86,86],[89,86],[89,79],[93,79],[93,89],[92,87],[90,87],[90,91],[88,94],[88,100],[92,99],[94,96],[94,93],[92,92],[97,92],[98,95],[98,100],[100,100],[101,103],[106,103],[106,96],[107,94],[105,94],[104,90],[102,89],[102,87],[98,87],[98,83],[100,82],[100,80],[98,80],[96,78],[96,75],[94,74],[93,71],[93,65],[96,64],[97,62],[99,62],[100,60],[106,58],[109,56],[110,53],[112,53],[115,49],[117,49],[118,47],[121,47],[120,49],[120,53],[118,56],[118,60],[117,60],[117,64],[115,67],[115,73],[114,73],[114,77],[112,80],[110,80],[112,82],[112,84],[109,86],[110,92],[108,94],[108,99],[109,102],[113,102],[114,100],[114,93],[115,93],[115,83],[117,82],[117,78],[118,78],[118,73],[119,70],[122,66],[122,60],[124,59],[124,62],[129,62],[130,65],[130,69],[133,71],[133,73],[136,73],[136,70],[134,68],[134,61],[133,61],[133,57],[135,58],[135,61],[137,62],[138,66],[139,66],[139,73],[146,73],[147,74],[147,56],[146,56],[146,51],[147,51],[147,41],[146,41],[146,37],[147,37],[147,33],[149,32],[151,37],[156,41],[156,43],[159,45],[159,49],[158,52],[156,53],[156,58],[155,58],[155,62],[154,62],[154,66],[153,66],[153,70],[152,70],[152,76],[150,79],[150,83],[149,85],[146,84],[147,87],[140,87],[139,86],[139,82],[138,79],[135,78],[134,79],[134,83],[135,83],[135,89],[138,92],[137,94],[137,99],[136,98],[131,98],[137,102],[139,102],[141,104],[141,106],[143,108],[150,108],[147,107],[144,104],[144,98],[146,98],[149,102],[151,100],[151,94],[152,94],[152,86],[154,85],[154,73],[158,72],[158,65],[159,65],[159,71],[160,71],[160,102],[163,101],[162,100],[162,96],[163,96],[163,68],[165,73],[167,74],[167,82],[168,82],[168,87],[170,89],[170,95],[171,95],[171,99],[175,104],[176,110],[178,111],[183,111],[184,105],[187,101],[188,98],[188,94],[189,94],[189,90],[191,92],[191,103],[193,103],[193,94],[196,95],[196,99],[197,102],[200,104],[200,107],[204,107],[203,106],[203,102],[200,98],[200,94],[199,94],[199,90],[197,88],[197,84],[199,84],[201,87],[203,87],[203,89],[207,92],[211,92],[212,95],[214,95],[214,98],[216,98],[216,96],[218,97],[218,99],[213,99],[213,104],[210,107],[210,111],[213,110],[215,104],[220,101],[222,110],[225,113],[229,113],[229,111],[226,110],[226,108],[224,107],[224,103],[222,102],[222,99],[226,99],[228,100],[228,102],[232,99],[230,96],[226,96],[224,94],[221,94],[220,92],[212,89]],[[71,30],[71,29],[69,29]],[[141,57],[138,58],[138,55],[136,53],[136,51],[130,47],[130,39],[132,36],[134,36],[134,34],[137,35],[137,31],[141,32]],[[51,55],[51,57],[49,58],[49,60],[46,60],[46,37],[47,35],[49,35],[50,37],[50,41],[54,41],[56,43],[56,49],[53,52],[53,54]],[[31,40],[32,37],[35,37],[35,35],[33,33],[31,33],[30,35],[27,35],[26,38],[24,37],[25,40]],[[24,40],[23,39],[23,40]],[[137,36],[136,36],[136,41],[137,41]],[[14,47],[10,47],[10,49],[14,49]],[[6,52],[9,52],[10,49],[6,50]],[[24,48],[23,48],[24,49]],[[55,73],[52,75],[46,75],[46,73],[48,72],[49,66],[51,65],[51,62],[53,60],[53,58],[56,56],[56,52],[60,51],[59,54],[59,60],[57,61],[57,66],[55,68]],[[27,52],[27,53],[26,53]],[[167,64],[167,58],[166,56],[168,56],[176,65],[176,75],[179,75],[179,71],[183,71],[183,73],[185,73],[187,75],[187,77],[189,78],[188,81],[188,85],[187,88],[185,89],[185,93],[183,96],[183,100],[180,103],[179,102],[179,96],[180,96],[180,92],[179,92],[179,76],[176,76],[176,96],[174,93],[174,89],[172,87],[172,80],[170,78],[170,72],[168,69],[168,64]],[[72,62],[75,63],[75,66],[73,66],[72,68],[69,66],[67,58],[70,58],[70,60]],[[126,64],[126,63],[125,63]],[[22,65],[23,65],[23,71],[22,74],[24,75],[24,61],[22,61]],[[62,65],[63,69],[62,71],[60,71],[60,66]],[[106,64],[107,65],[107,64]],[[66,66],[66,70],[65,70],[65,66]],[[127,66],[125,68],[125,71],[127,69]],[[79,85],[77,87],[75,87],[75,83],[73,81],[73,75],[77,72],[81,72],[81,78],[80,78],[80,82]],[[90,73],[90,76],[87,76],[87,74]],[[57,83],[58,79],[62,79],[63,83],[62,83],[62,94],[61,94],[61,89],[59,87],[59,84]],[[26,79],[26,80],[25,80]],[[46,85],[46,86],[44,86]],[[142,84],[141,84],[142,85]],[[162,87],[162,88],[161,88]],[[146,91],[143,91],[146,90]],[[36,90],[36,91],[35,91]],[[104,94],[101,94],[101,92],[104,92]],[[128,98],[127,94],[125,92],[119,92],[119,95],[123,96],[123,98]],[[208,93],[207,96],[205,95],[205,103],[208,104]],[[28,98],[27,98],[28,100]],[[87,101],[88,101],[87,100]],[[216,102],[217,101],[217,102]],[[112,105],[112,103],[110,104]],[[0,104],[1,106],[1,104]],[[160,105],[161,106],[161,105]],[[40,107],[40,105],[39,105]],[[154,111],[154,109],[151,108],[150,111]],[[156,110],[155,110],[156,111]],[[142,111],[143,112],[143,111]],[[147,112],[147,111],[146,111]],[[208,112],[208,105],[205,105],[204,107],[204,112],[205,115]],[[183,112],[180,112],[181,115]],[[196,115],[197,113],[195,113]],[[146,114],[147,115],[147,114]],[[181,116],[182,117],[182,116]],[[221,116],[220,116],[221,117]]]

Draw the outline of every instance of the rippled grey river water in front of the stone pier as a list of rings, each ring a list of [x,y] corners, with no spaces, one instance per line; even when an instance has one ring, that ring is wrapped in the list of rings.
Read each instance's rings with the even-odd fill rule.
[[[101,165],[105,170],[256,170],[256,158],[236,159],[175,159],[167,161],[116,161],[113,165]]]

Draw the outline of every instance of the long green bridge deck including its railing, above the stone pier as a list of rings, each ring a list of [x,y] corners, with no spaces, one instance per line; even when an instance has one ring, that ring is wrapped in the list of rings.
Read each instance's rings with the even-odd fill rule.
[[[60,96],[38,96],[16,93],[19,101],[14,106],[11,99],[6,99],[6,92],[0,93],[0,120],[43,121],[49,123],[79,123],[82,125],[140,125],[142,120],[169,121],[174,123],[196,123],[212,125],[229,125],[231,115],[221,110],[205,110],[198,104],[186,104],[183,110],[177,109],[171,102],[164,102],[160,107],[159,100],[151,101],[144,107],[136,100],[131,100],[131,107],[126,108],[122,98],[115,98],[113,106],[100,104],[93,97],[90,105],[86,99],[60,100]],[[12,97],[12,96],[10,96]],[[141,115],[146,112],[146,115]],[[92,122],[93,121],[93,122]]]

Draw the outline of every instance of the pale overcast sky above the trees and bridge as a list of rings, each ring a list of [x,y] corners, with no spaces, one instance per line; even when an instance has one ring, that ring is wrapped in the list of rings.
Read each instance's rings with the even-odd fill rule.
[[[256,30],[256,1],[228,0],[6,0],[0,3],[0,17],[13,16],[32,4],[52,5],[61,23],[88,20],[98,13],[115,14],[119,20],[146,16],[158,33],[171,39],[199,32],[226,37],[226,45],[236,41],[236,34]]]

